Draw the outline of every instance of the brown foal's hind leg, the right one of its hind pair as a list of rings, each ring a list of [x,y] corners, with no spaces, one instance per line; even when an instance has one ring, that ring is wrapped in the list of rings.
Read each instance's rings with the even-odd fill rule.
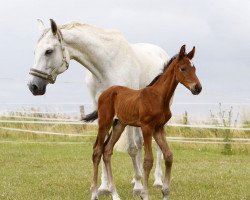
[[[116,187],[113,181],[113,175],[112,175],[112,169],[111,169],[111,155],[113,154],[114,145],[120,138],[124,128],[125,128],[125,125],[120,123],[118,120],[114,121],[110,140],[105,145],[104,153],[103,153],[103,160],[107,169],[107,175],[109,179],[109,190],[111,192],[113,200],[120,200],[120,197],[116,191]]]

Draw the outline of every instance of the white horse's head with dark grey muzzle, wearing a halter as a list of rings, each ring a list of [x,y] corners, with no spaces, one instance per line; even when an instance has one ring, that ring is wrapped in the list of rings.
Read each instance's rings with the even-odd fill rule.
[[[43,34],[35,48],[34,66],[30,69],[28,87],[33,95],[43,95],[48,83],[55,83],[58,74],[69,66],[69,54],[63,45],[63,36],[54,20],[51,27],[45,29],[42,21]]]

